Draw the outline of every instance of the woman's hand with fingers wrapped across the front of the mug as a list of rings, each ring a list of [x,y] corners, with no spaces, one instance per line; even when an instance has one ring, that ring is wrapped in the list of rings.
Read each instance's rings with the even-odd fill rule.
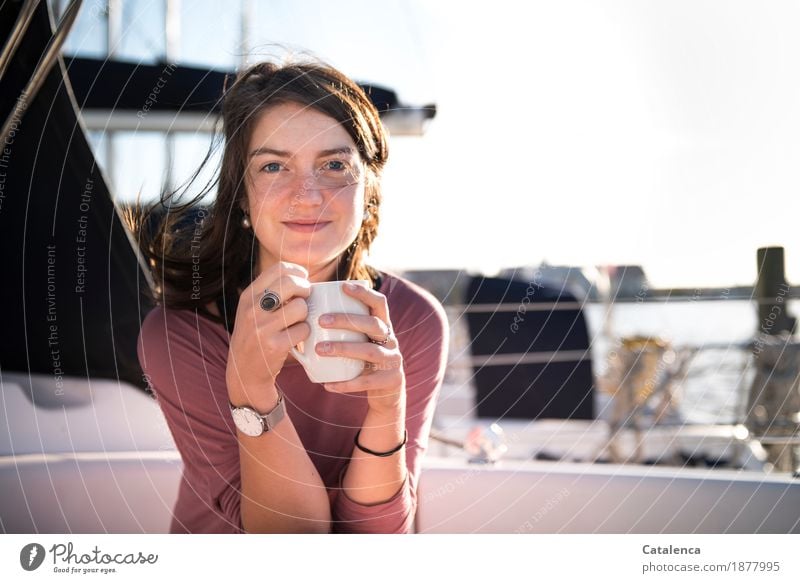
[[[403,355],[392,331],[386,296],[357,284],[345,284],[343,289],[347,295],[363,302],[370,314],[323,314],[320,326],[362,332],[369,341],[320,342],[316,346],[317,354],[363,360],[364,372],[353,380],[324,383],[323,386],[336,393],[366,391],[370,409],[378,413],[402,411],[406,402]]]

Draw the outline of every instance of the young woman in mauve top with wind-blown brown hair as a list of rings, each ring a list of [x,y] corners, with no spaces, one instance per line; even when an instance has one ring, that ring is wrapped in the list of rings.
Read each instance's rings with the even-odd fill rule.
[[[430,294],[365,264],[388,156],[378,113],[316,63],[257,64],[222,110],[212,207],[167,197],[139,229],[158,304],[139,361],[184,463],[171,532],[409,532],[448,327]],[[312,383],[290,355],[310,284],[349,279],[372,283],[345,286],[369,315],[319,322],[369,341],[314,348],[364,370]]]

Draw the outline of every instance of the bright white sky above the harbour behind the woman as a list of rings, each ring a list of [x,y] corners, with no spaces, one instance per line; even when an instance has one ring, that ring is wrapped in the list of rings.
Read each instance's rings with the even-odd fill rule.
[[[182,13],[182,60],[237,62],[235,10]],[[782,245],[800,283],[798,2],[282,0],[252,22],[256,57],[305,48],[437,104],[392,142],[376,265],[734,285]]]

